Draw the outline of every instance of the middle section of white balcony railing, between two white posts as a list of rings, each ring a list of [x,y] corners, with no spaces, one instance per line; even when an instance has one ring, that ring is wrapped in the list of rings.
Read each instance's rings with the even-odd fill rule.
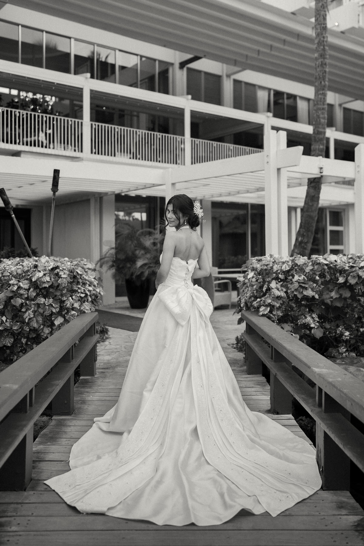
[[[184,165],[184,137],[92,122],[91,153],[133,161]]]

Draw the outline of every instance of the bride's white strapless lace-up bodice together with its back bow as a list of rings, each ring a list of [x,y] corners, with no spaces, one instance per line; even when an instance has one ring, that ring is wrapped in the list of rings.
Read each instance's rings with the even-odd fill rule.
[[[162,259],[162,254],[160,259]],[[193,306],[205,321],[208,321],[213,311],[211,300],[205,290],[199,286],[193,286],[191,277],[196,263],[197,260],[186,262],[174,256],[168,277],[159,284],[157,290],[158,298],[163,301],[176,321],[182,325],[188,321]]]

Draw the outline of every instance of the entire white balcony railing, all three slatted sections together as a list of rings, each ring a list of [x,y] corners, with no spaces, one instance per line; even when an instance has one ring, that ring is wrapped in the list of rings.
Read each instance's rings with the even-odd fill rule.
[[[90,150],[92,156],[116,161],[187,163],[184,136],[98,122],[91,122],[88,127],[90,132],[86,131],[86,122],[73,118],[0,108],[0,147],[63,156],[80,156]],[[195,138],[190,139],[190,144],[188,163],[192,164],[261,152],[258,148]]]

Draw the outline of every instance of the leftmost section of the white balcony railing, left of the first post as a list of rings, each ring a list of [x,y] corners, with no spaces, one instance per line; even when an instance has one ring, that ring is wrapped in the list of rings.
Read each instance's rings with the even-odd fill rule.
[[[82,121],[0,108],[0,146],[15,150],[79,155],[82,152]]]

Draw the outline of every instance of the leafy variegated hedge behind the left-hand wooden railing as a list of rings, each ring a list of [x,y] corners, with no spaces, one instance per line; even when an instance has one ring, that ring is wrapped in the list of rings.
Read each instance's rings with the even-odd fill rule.
[[[0,361],[31,351],[100,303],[94,266],[84,259],[0,260]]]

